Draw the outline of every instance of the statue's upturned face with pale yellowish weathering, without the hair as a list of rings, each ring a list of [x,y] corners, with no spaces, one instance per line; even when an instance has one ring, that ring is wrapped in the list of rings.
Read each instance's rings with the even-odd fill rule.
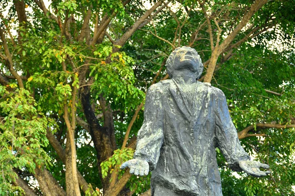
[[[199,62],[197,60],[197,53],[192,49],[179,49],[174,57],[175,70],[190,70],[196,73],[199,69]]]

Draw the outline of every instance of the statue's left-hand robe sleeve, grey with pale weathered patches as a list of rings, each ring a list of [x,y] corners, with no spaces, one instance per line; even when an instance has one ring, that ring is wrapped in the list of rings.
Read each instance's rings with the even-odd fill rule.
[[[138,131],[135,159],[146,160],[149,170],[154,170],[163,144],[163,116],[161,97],[163,96],[161,83],[149,87],[144,113],[144,123]]]

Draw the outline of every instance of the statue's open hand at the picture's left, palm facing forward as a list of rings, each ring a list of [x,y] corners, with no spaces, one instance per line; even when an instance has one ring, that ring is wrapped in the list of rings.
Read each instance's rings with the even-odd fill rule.
[[[134,175],[148,175],[149,166],[146,160],[141,159],[131,159],[123,163],[120,167],[121,170],[124,168],[130,168],[130,173]]]

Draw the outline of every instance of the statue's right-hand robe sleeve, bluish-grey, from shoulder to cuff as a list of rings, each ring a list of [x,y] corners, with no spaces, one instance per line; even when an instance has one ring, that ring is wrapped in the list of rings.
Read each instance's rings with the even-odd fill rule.
[[[250,160],[250,156],[240,145],[236,127],[232,122],[224,93],[217,89],[215,93],[215,139],[217,146],[232,170],[241,172],[238,162]]]

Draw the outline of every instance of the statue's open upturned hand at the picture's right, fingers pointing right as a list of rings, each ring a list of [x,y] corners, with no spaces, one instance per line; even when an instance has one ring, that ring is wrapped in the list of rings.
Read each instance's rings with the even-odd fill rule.
[[[259,168],[268,169],[269,166],[258,161],[239,161],[238,164],[244,172],[254,177],[263,177],[270,173],[269,171],[261,171]]]

